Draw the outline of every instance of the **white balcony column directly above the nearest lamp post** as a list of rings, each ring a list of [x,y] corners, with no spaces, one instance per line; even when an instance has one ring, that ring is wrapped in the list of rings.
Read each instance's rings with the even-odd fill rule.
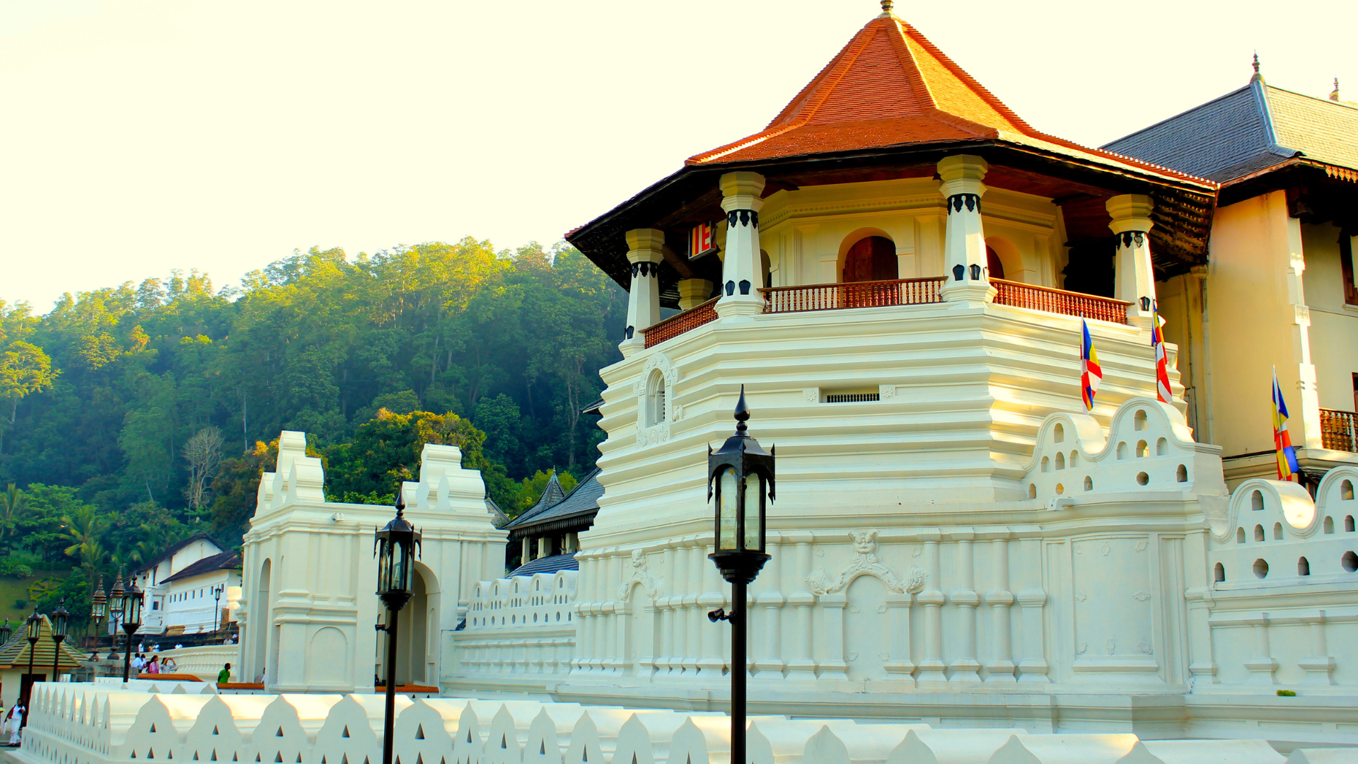
[[[759,209],[765,179],[759,173],[727,173],[721,177],[721,208],[727,211],[727,247],[721,262],[721,299],[717,314],[763,313],[759,266]]]

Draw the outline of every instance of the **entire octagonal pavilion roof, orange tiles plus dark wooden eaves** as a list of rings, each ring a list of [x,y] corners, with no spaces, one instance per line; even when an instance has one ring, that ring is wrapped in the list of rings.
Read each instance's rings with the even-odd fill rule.
[[[660,302],[678,307],[679,280],[720,281],[718,258],[678,253],[687,250],[693,226],[725,216],[722,173],[763,174],[767,197],[813,185],[930,178],[949,154],[983,156],[987,185],[1059,200],[1069,242],[1111,239],[1107,198],[1149,194],[1156,269],[1169,276],[1206,262],[1214,181],[1032,128],[889,11],[869,20],[763,131],[690,156],[566,239],[630,288],[626,231],[664,231]]]

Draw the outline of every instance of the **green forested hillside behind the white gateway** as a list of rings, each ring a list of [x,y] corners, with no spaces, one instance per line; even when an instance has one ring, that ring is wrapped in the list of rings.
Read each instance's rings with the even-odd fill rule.
[[[580,409],[625,315],[574,249],[471,238],[312,249],[239,288],[175,272],[46,315],[0,302],[0,549],[92,575],[197,530],[236,545],[280,430],[308,434],[335,500],[390,500],[422,443],[460,445],[512,515],[551,469],[592,468]]]

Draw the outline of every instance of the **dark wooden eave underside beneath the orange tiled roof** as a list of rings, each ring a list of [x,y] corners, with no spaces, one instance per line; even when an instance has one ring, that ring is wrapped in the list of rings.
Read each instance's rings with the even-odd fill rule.
[[[705,220],[720,220],[724,173],[751,170],[765,175],[765,196],[812,185],[868,182],[911,177],[936,177],[936,164],[951,154],[975,154],[990,163],[986,185],[1036,196],[1062,205],[1067,238],[1071,242],[1111,239],[1104,201],[1122,193],[1149,194],[1156,208],[1152,218],[1152,256],[1161,277],[1187,272],[1207,261],[1207,238],[1217,192],[1211,185],[1175,182],[1048,152],[999,139],[910,144],[857,150],[842,154],[815,154],[756,162],[687,164],[644,189],[607,213],[566,235],[604,273],[623,288],[631,285],[625,234],[633,228],[665,231],[668,249],[660,269],[660,298],[665,307],[678,306],[680,279],[721,280],[716,257],[689,261],[687,231]]]

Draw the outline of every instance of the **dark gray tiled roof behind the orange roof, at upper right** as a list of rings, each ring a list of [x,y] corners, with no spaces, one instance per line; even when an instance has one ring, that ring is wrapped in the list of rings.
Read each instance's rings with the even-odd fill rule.
[[[1253,80],[1103,148],[1217,182],[1298,155],[1358,169],[1358,109]]]

